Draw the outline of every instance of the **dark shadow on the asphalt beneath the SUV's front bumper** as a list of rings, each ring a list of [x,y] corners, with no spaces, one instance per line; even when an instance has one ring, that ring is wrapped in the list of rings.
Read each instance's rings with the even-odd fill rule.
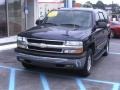
[[[46,67],[38,67],[34,66],[31,69],[26,69],[33,72],[46,73],[50,75],[57,76],[69,76],[69,77],[82,77],[81,73],[78,73],[78,70],[75,69],[64,69],[64,68],[46,68]]]

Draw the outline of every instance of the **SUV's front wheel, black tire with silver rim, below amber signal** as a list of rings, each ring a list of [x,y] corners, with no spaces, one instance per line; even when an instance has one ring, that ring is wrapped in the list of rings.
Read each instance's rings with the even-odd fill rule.
[[[91,73],[92,68],[92,61],[93,61],[93,53],[92,50],[88,50],[86,54],[86,63],[84,65],[84,68],[82,69],[81,76],[87,77]]]

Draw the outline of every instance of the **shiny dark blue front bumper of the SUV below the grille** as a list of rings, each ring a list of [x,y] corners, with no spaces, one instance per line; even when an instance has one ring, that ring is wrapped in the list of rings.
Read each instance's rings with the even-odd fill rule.
[[[53,67],[53,68],[83,68],[86,58],[60,58],[60,57],[47,57],[47,56],[36,56],[32,54],[26,54],[17,52],[17,59],[20,62],[27,64],[42,66],[42,67]]]

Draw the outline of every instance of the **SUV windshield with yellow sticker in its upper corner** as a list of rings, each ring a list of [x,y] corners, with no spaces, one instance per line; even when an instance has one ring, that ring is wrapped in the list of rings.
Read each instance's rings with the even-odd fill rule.
[[[46,23],[56,25],[78,25],[90,27],[92,25],[92,14],[88,11],[51,11],[47,16]]]

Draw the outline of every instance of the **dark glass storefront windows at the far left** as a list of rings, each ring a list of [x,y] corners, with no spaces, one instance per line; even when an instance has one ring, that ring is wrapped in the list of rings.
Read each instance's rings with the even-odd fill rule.
[[[13,36],[23,29],[23,0],[0,0],[0,38]]]

